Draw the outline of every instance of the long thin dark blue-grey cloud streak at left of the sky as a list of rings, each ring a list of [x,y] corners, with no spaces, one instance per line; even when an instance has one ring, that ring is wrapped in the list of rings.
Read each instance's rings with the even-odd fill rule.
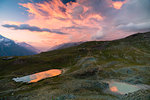
[[[2,26],[6,28],[12,28],[14,30],[28,30],[33,32],[49,32],[49,33],[56,33],[56,34],[65,34],[63,32],[59,32],[56,30],[50,30],[48,28],[39,28],[37,26],[30,26],[28,24],[21,24],[21,25],[4,24]]]

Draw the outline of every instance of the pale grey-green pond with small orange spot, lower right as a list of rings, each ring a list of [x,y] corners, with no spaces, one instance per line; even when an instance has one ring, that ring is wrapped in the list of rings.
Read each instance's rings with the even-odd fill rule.
[[[132,85],[128,83],[123,82],[116,82],[116,81],[106,81],[109,84],[109,91],[113,93],[119,93],[119,94],[128,94],[132,93],[141,89],[150,89],[150,86],[148,85]]]

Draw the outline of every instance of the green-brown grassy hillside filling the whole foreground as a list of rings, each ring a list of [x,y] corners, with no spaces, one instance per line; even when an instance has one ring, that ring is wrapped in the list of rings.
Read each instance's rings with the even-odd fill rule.
[[[50,69],[62,74],[35,83],[12,80]],[[9,61],[0,58],[0,99],[150,100],[149,76],[150,32],[138,33]]]

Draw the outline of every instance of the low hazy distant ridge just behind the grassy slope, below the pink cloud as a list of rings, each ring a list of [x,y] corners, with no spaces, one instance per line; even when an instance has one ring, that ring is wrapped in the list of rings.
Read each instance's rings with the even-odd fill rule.
[[[65,48],[69,48],[69,47],[73,47],[73,46],[78,46],[83,42],[71,42],[71,43],[64,43],[64,44],[60,44],[57,46],[54,46],[50,49],[51,50],[58,50],[58,49],[65,49]]]

